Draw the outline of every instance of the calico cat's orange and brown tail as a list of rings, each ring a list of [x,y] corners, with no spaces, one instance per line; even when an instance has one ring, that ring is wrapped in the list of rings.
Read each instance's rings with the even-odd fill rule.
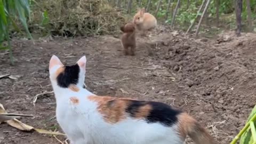
[[[188,135],[196,144],[217,144],[204,127],[186,113],[179,114],[178,126],[179,133],[184,139]]]

